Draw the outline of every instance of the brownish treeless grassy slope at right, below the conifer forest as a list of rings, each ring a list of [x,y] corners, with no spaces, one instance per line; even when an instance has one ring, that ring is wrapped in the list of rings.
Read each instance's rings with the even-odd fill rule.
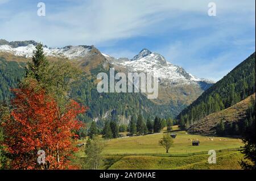
[[[204,117],[199,123],[189,127],[188,132],[193,134],[216,134],[216,127],[221,120],[225,120],[225,125],[233,123],[239,124],[239,121],[245,119],[246,110],[250,106],[252,100],[255,100],[255,93],[234,106]]]

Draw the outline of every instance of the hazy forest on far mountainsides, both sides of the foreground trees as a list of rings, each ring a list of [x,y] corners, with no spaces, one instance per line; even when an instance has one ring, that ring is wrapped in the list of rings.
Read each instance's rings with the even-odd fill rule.
[[[25,66],[25,62],[6,61],[0,57],[0,102],[9,102],[10,88],[16,87],[24,77]],[[82,74],[79,81],[73,83],[71,90],[72,99],[89,107],[89,110],[80,116],[85,122],[96,120],[98,125],[103,127],[104,119],[127,124],[130,116],[138,116],[139,113],[154,119],[155,116],[174,117],[180,111],[174,106],[155,104],[141,93],[98,93],[95,75],[104,69],[98,66],[91,71],[94,76]]]

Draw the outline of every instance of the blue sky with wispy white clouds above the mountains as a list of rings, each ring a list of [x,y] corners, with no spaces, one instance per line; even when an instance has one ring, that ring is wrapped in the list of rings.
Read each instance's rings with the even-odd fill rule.
[[[46,16],[38,16],[38,2]],[[216,16],[208,16],[208,3]],[[148,48],[218,81],[255,52],[254,0],[0,0],[0,39],[95,45],[114,57]]]

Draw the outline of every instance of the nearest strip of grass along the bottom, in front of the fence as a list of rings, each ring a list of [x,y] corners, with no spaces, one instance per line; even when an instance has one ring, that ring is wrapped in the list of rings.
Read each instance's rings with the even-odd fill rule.
[[[218,153],[216,164],[209,164],[208,157],[208,154],[191,157],[125,156],[105,169],[241,169],[238,161],[242,159],[242,154],[239,151]]]

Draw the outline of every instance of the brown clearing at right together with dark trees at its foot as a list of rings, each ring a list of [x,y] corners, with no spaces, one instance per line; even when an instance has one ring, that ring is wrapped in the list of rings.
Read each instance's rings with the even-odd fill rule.
[[[255,107],[255,94],[225,110],[205,116],[187,129],[193,134],[242,135],[252,125],[251,114]],[[255,108],[254,108],[255,109]]]

